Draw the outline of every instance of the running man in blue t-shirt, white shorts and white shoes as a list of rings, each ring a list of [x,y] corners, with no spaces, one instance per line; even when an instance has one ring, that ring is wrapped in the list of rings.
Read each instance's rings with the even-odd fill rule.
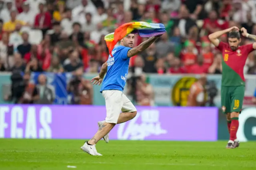
[[[108,61],[102,65],[99,75],[92,79],[93,84],[100,85],[105,73],[107,73],[100,89],[105,98],[107,114],[105,121],[98,122],[98,132],[81,147],[84,152],[101,156],[102,154],[99,154],[96,150],[96,143],[101,138],[108,143],[108,133],[116,124],[124,123],[136,116],[136,108],[123,93],[130,57],[148,48],[158,37],[150,37],[137,47],[132,48],[134,34],[128,34],[120,41],[121,45],[113,49],[113,57],[109,55]],[[122,111],[121,114],[120,111]]]

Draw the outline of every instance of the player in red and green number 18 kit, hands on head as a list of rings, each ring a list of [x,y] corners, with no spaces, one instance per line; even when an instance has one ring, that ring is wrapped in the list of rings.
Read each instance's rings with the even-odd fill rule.
[[[248,34],[241,28],[242,35],[256,41],[256,36]],[[228,33],[228,43],[220,42],[218,38]],[[256,43],[241,45],[238,27],[217,31],[209,35],[210,41],[222,51],[222,111],[226,114],[230,140],[226,148],[237,148],[239,141],[236,138],[239,122],[238,116],[242,110],[245,91],[244,65],[250,52],[256,49]]]

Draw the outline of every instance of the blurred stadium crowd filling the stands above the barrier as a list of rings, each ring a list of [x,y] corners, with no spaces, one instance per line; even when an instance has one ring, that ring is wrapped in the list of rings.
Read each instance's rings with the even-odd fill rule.
[[[254,0],[2,0],[0,71],[97,73],[104,36],[133,21],[163,23],[166,34],[130,60],[135,73],[222,72],[207,35],[231,26],[256,34]],[[226,42],[227,37],[223,36]],[[144,38],[136,37],[135,45]],[[251,43],[243,40],[242,44]],[[244,72],[256,73],[255,54]]]

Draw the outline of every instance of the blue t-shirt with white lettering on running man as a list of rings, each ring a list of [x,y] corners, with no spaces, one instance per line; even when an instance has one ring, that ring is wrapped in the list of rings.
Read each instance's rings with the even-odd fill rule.
[[[130,58],[127,57],[129,49],[131,48],[119,45],[112,50],[113,57],[108,56],[108,70],[100,93],[103,90],[124,90],[130,61]]]

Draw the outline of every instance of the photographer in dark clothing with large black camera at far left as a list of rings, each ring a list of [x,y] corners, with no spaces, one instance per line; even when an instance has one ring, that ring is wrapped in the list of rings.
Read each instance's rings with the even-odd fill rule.
[[[30,72],[25,72],[23,77],[20,71],[14,71],[11,76],[11,95],[6,96],[6,101],[13,101],[15,104],[33,104],[39,99],[36,86],[30,81]]]

